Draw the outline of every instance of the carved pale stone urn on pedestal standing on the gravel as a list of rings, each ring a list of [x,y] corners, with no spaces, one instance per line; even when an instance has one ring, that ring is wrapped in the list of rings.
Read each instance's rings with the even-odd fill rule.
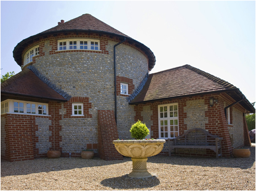
[[[116,150],[121,155],[131,157],[131,178],[148,178],[152,175],[147,171],[147,157],[157,155],[163,149],[164,139],[157,140],[114,140]]]

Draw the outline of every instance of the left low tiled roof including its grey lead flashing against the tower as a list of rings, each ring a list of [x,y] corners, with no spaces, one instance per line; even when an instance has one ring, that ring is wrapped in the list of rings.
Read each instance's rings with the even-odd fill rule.
[[[1,84],[1,100],[23,98],[66,102],[71,98],[63,90],[56,89],[49,80],[46,83],[43,79],[34,67],[29,66]]]

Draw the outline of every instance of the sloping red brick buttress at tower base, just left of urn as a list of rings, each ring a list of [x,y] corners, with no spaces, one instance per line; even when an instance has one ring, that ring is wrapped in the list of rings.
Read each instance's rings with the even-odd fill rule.
[[[113,144],[118,138],[114,111],[98,110],[98,154],[101,159],[122,160]]]

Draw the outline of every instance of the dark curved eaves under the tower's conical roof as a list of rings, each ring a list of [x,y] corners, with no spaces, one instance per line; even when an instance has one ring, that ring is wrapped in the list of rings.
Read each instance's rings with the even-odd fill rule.
[[[34,43],[36,41],[39,41],[40,38],[44,38],[47,39],[47,37],[49,35],[57,35],[57,34],[64,34],[64,35],[68,35],[68,32],[75,32],[77,35],[79,34],[79,32],[86,32],[86,33],[96,33],[96,34],[104,34],[104,35],[109,35],[110,37],[119,37],[120,40],[123,40],[124,37],[126,38],[126,41],[129,43],[135,43],[135,46],[137,48],[140,48],[141,51],[143,51],[148,58],[148,69],[152,70],[154,65],[156,64],[156,57],[154,56],[153,52],[150,50],[150,48],[148,48],[147,46],[145,46],[143,43],[138,42],[134,39],[132,39],[131,37],[127,37],[127,36],[123,36],[123,35],[118,35],[112,32],[106,32],[106,31],[99,31],[99,30],[83,30],[83,29],[65,29],[65,30],[57,30],[57,31],[49,31],[49,32],[41,32],[39,34],[30,36],[22,41],[20,41],[14,48],[13,50],[13,57],[15,62],[17,62],[17,64],[19,66],[22,66],[22,52],[23,50],[31,43]]]

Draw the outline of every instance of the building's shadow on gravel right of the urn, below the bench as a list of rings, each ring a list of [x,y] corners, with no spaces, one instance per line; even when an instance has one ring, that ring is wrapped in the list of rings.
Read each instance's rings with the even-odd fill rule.
[[[189,165],[202,167],[228,167],[248,169],[253,166],[255,162],[255,147],[244,146],[250,149],[250,157],[248,158],[206,158],[206,157],[190,157],[190,156],[152,156],[148,157],[147,162],[152,163],[167,163],[170,165]]]

